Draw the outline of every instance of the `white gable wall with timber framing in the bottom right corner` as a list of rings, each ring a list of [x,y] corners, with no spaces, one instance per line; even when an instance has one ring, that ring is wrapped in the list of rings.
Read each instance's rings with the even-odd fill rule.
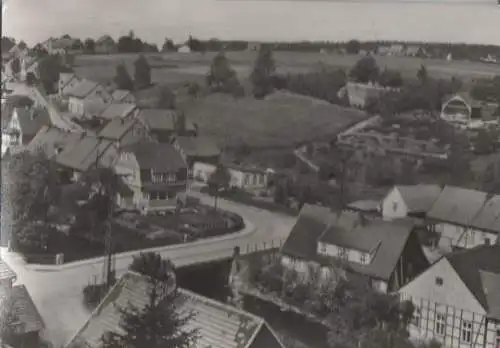
[[[440,281],[442,285],[437,284]],[[418,325],[413,323],[410,327],[412,337],[435,338],[443,342],[445,347],[483,346],[485,311],[446,258],[402,287],[399,293],[402,298],[412,300],[419,317]],[[439,315],[445,318],[443,335],[436,332]],[[463,340],[463,321],[472,322],[472,342]],[[490,329],[492,332],[488,339],[493,342],[496,333]]]

